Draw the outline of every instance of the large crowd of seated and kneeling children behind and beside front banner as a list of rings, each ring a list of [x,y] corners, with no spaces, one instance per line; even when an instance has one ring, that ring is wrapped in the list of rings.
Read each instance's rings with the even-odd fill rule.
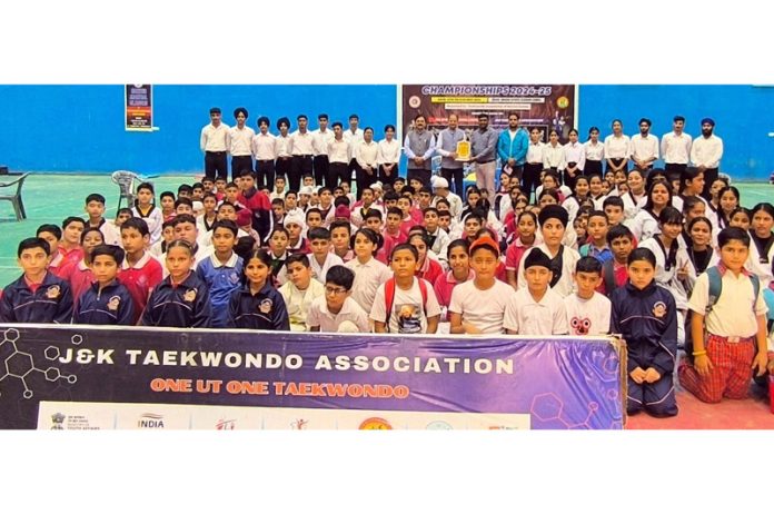
[[[305,176],[286,190],[280,176],[268,190],[245,170],[158,205],[142,184],[115,221],[92,194],[88,219],[19,244],[23,275],[2,291],[0,322],[621,334],[629,413],[675,415],[675,369],[705,402],[744,397],[753,372],[774,369],[774,207],[741,208],[724,179],[704,199],[695,169],[677,184],[619,175],[578,176],[568,190],[549,169],[530,204],[506,174],[494,198],[474,186],[463,200],[434,177],[376,182],[355,201],[347,182]]]

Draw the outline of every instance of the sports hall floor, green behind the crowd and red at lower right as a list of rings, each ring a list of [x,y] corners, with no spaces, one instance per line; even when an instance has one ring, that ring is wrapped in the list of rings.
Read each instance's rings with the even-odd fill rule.
[[[0,176],[0,181],[7,177]],[[151,179],[156,195],[165,190],[177,191],[185,182],[194,182],[191,176],[161,176]],[[742,204],[752,207],[758,201],[772,201],[774,186],[766,182],[735,182]],[[4,191],[3,191],[4,192]],[[22,189],[27,219],[16,221],[8,201],[0,201],[0,287],[14,280],[20,270],[16,264],[18,243],[34,236],[36,228],[44,223],[60,224],[68,216],[83,216],[83,199],[90,192],[100,192],[108,200],[107,216],[116,214],[119,189],[105,175],[30,175]],[[767,399],[756,391],[747,401],[724,401],[720,405],[706,405],[692,395],[678,391],[677,404],[681,413],[674,418],[656,419],[646,414],[631,417],[627,428],[774,428],[774,414]]]

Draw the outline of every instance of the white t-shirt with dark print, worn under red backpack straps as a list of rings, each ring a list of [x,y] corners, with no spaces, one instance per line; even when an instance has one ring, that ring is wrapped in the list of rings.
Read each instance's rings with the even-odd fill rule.
[[[389,317],[387,332],[391,334],[426,334],[427,318],[440,315],[440,306],[435,296],[435,290],[427,280],[424,280],[427,287],[427,304],[423,308],[421,290],[417,280],[424,279],[415,278],[410,290],[404,290],[397,285],[395,286],[393,313]],[[376,290],[370,318],[379,323],[385,323],[385,319],[387,319],[385,284],[380,285]]]

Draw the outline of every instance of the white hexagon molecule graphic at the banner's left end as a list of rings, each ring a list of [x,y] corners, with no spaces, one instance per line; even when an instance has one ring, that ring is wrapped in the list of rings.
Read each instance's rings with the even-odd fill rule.
[[[78,345],[82,339],[81,336],[76,335],[72,336],[71,343]],[[64,380],[68,384],[75,384],[78,380],[76,375],[62,375],[59,368],[53,366],[49,366],[46,369],[36,367],[32,355],[19,350],[17,347],[18,340],[19,330],[16,328],[7,328],[3,330],[2,343],[0,343],[0,359],[2,360],[2,367],[0,367],[0,395],[2,394],[2,382],[16,378],[21,380],[21,385],[24,386],[22,396],[26,399],[30,399],[34,393],[27,380],[33,372],[43,375],[48,382]],[[47,359],[56,360],[59,358],[60,353],[59,348],[56,346],[48,346],[43,354]]]

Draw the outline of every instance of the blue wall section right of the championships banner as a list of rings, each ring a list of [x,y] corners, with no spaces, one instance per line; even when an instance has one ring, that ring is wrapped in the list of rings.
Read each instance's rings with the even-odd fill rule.
[[[599,127],[601,138],[619,118],[624,132],[638,134],[639,118],[653,121],[651,132],[672,130],[672,118],[685,117],[686,132],[701,136],[701,120],[715,120],[723,139],[721,171],[736,179],[765,180],[774,171],[774,88],[753,86],[580,86],[580,139]],[[662,162],[662,161],[659,161]]]

